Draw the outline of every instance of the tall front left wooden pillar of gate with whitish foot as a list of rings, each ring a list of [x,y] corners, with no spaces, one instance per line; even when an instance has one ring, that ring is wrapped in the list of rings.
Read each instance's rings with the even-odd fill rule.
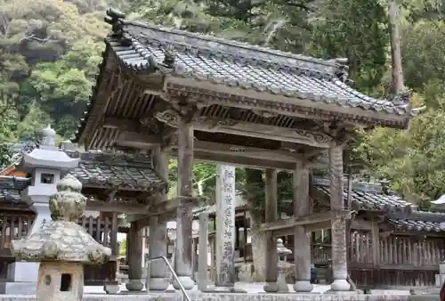
[[[176,246],[174,270],[184,289],[193,289],[191,279],[191,223],[192,212],[190,199],[193,191],[193,126],[186,118],[178,116],[178,198],[176,209]],[[179,289],[174,281],[174,289]]]

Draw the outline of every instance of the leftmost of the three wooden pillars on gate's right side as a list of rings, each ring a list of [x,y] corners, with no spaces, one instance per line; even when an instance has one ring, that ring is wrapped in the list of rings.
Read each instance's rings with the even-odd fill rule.
[[[266,169],[265,222],[275,222],[278,217],[277,170]],[[278,255],[273,232],[266,232],[266,292],[277,292]]]

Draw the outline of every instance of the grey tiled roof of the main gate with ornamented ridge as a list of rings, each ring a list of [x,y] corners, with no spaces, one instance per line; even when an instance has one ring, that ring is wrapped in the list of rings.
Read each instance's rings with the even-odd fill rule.
[[[283,94],[342,107],[409,115],[409,99],[377,100],[344,83],[347,67],[294,53],[125,20],[107,11],[108,44],[135,71],[160,70],[217,84]]]

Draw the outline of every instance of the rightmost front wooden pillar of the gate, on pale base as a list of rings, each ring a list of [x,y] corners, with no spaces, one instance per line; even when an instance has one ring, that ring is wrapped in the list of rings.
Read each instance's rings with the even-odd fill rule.
[[[329,149],[329,178],[331,210],[334,212],[332,220],[332,274],[334,281],[331,289],[346,291],[351,288],[347,281],[347,246],[346,246],[346,218],[343,197],[343,147],[334,145]]]

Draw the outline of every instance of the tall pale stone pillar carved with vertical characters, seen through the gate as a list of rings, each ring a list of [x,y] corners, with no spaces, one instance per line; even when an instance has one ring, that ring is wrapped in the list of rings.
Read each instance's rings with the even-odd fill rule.
[[[235,284],[235,167],[218,165],[216,181],[216,282]]]

